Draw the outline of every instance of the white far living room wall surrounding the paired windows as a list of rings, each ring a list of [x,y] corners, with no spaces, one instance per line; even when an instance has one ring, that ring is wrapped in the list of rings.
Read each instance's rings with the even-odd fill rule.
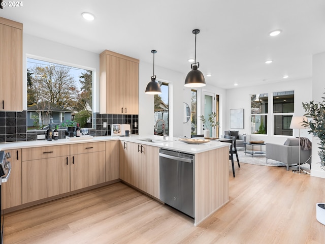
[[[230,129],[230,109],[244,109],[244,129],[239,129],[239,133],[247,134],[247,140],[264,140],[265,142],[282,144],[288,138],[288,136],[274,136],[271,135],[270,126],[273,126],[273,121],[270,123],[271,116],[268,116],[269,127],[268,135],[250,135],[250,95],[268,93],[269,97],[273,92],[284,92],[286,90],[295,90],[295,116],[302,116],[305,111],[302,106],[302,102],[311,101],[312,87],[311,79],[301,79],[292,81],[283,81],[277,83],[255,85],[249,87],[238,87],[229,89],[226,91],[226,123],[225,130]],[[271,111],[269,111],[270,113]],[[236,129],[237,130],[237,129]],[[298,130],[294,130],[294,136],[299,135]],[[307,130],[301,130],[301,136],[311,139],[311,135]]]

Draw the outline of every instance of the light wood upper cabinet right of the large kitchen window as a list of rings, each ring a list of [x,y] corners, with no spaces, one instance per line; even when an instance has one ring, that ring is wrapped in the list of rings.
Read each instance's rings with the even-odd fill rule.
[[[138,114],[139,59],[105,50],[100,75],[100,112]]]

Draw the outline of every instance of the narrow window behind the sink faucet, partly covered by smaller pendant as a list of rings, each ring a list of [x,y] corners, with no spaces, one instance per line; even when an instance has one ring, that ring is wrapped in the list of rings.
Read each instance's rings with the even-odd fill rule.
[[[161,94],[154,95],[154,134],[155,135],[163,135],[164,134],[164,126],[163,121],[158,119],[163,119],[166,123],[165,130],[166,135],[169,135],[168,131],[168,105],[169,105],[169,86],[168,83],[159,82],[161,87]]]

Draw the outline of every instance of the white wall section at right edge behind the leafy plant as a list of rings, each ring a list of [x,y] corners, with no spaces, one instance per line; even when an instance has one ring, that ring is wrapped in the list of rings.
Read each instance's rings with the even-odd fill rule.
[[[313,55],[313,80],[312,80],[312,99],[308,100],[321,102],[325,92],[325,52]],[[325,178],[325,171],[320,168],[318,152],[319,140],[316,137],[312,138],[312,165],[310,175]]]

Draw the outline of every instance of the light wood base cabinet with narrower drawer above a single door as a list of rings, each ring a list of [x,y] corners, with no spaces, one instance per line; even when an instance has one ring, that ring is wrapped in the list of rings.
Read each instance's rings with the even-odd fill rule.
[[[70,145],[71,191],[105,182],[105,142]]]

